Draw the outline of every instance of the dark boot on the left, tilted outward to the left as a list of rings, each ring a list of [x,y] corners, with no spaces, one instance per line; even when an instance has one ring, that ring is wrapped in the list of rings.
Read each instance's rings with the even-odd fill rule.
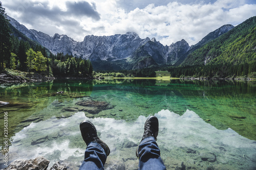
[[[100,146],[104,149],[106,156],[109,156],[110,149],[108,145],[99,139],[97,130],[90,121],[83,120],[83,122],[80,123],[80,131],[84,142],[86,142],[86,145],[88,145],[90,142],[99,143]]]

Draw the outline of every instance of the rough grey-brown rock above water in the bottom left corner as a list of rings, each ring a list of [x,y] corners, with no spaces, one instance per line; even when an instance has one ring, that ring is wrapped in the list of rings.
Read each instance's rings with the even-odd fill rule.
[[[39,156],[35,159],[30,160],[16,160],[12,162],[6,170],[11,169],[19,169],[19,170],[27,170],[27,169],[38,169],[38,170],[46,170],[50,161],[46,158]]]

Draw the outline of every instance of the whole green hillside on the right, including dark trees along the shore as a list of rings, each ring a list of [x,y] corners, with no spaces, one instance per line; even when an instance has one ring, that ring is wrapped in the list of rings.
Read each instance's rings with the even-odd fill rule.
[[[189,54],[173,77],[247,76],[256,71],[256,16]],[[217,75],[218,76],[218,75]]]

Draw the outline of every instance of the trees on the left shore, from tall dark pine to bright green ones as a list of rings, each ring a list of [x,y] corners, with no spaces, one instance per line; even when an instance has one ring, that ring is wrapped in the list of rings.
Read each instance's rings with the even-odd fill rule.
[[[45,47],[13,35],[5,9],[0,2],[0,71],[5,68],[38,72],[56,77],[92,76],[89,60],[58,53],[53,55]]]

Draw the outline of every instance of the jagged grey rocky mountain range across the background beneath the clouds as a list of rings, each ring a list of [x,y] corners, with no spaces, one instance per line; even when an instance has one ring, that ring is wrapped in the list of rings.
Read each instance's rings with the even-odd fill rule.
[[[206,35],[195,45],[189,46],[182,39],[169,46],[164,46],[155,38],[141,39],[138,34],[132,32],[112,36],[88,35],[84,37],[83,41],[78,42],[67,35],[55,34],[51,37],[36,30],[29,30],[11,17],[8,16],[7,19],[15,29],[45,46],[51,53],[63,53],[89,59],[95,70],[179,65],[198,48],[234,28],[232,25],[224,25]]]

